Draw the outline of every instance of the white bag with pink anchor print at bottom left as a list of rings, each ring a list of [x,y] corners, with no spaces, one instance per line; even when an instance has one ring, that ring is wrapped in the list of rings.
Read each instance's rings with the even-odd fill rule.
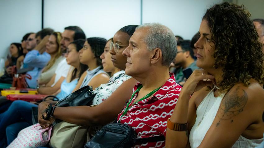
[[[46,146],[50,140],[52,125],[42,129],[39,123],[22,129],[7,148],[36,148]]]

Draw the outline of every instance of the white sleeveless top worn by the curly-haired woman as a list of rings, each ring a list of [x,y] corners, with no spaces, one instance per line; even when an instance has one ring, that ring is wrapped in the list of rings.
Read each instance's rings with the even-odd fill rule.
[[[197,117],[189,136],[191,148],[198,147],[203,141],[205,134],[215,119],[221,101],[225,96],[225,94],[221,94],[218,97],[215,97],[213,90],[214,89],[207,94],[196,110]],[[262,141],[263,138],[251,140],[240,136],[232,148],[254,148]]]

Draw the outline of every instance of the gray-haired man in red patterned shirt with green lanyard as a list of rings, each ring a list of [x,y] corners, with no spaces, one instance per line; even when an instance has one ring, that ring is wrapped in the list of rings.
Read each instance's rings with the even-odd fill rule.
[[[134,86],[134,94],[117,119],[130,125],[137,138],[157,136],[155,142],[137,143],[134,147],[165,147],[163,138],[167,120],[181,90],[174,74],[169,73],[176,46],[171,29],[162,24],[148,23],[136,28],[129,46],[122,53],[127,57],[125,73],[139,83]]]

